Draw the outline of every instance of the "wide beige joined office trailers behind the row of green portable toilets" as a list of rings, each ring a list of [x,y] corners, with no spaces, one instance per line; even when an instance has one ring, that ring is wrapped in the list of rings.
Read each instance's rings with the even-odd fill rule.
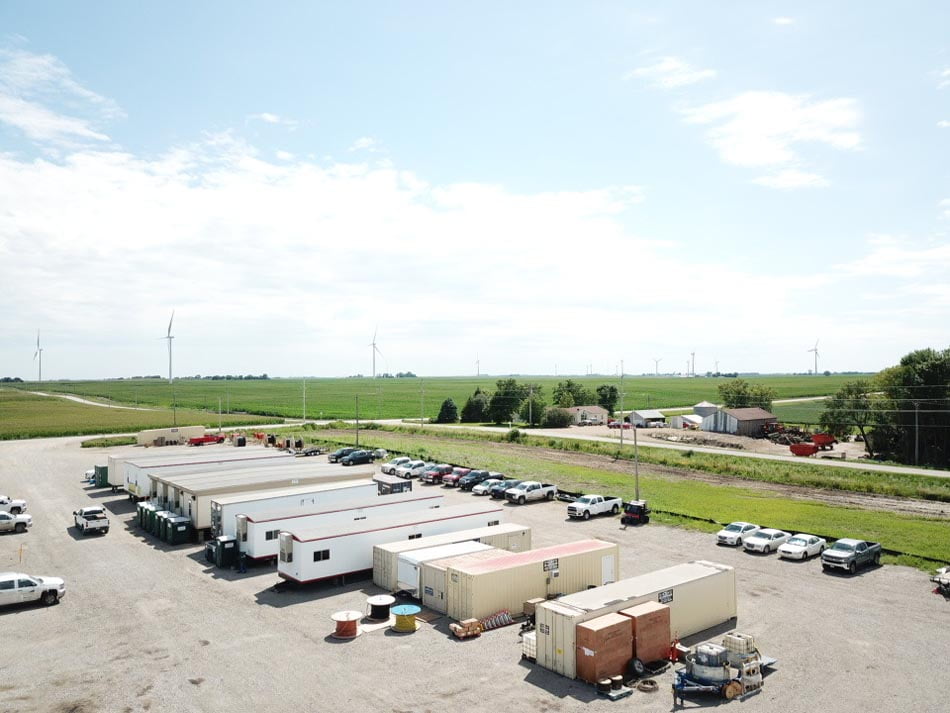
[[[306,460],[306,459],[304,459]],[[274,463],[261,468],[242,468],[217,473],[159,476],[149,473],[155,487],[166,493],[159,503],[191,519],[196,530],[211,527],[211,501],[225,495],[261,490],[317,485],[321,483],[368,481],[372,465],[341,466],[330,463]]]

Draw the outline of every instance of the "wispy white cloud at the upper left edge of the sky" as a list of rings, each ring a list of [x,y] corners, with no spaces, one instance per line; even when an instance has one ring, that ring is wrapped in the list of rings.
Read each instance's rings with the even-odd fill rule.
[[[27,138],[67,147],[108,141],[95,125],[123,116],[114,101],[82,86],[57,58],[0,49],[0,122]]]

